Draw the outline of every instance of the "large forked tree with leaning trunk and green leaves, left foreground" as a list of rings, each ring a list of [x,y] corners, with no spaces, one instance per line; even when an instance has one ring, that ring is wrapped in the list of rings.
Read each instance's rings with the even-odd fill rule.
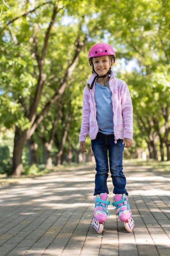
[[[87,31],[84,32],[82,26],[84,11],[89,8],[89,4],[87,1],[79,2],[81,5],[78,1],[70,4],[69,1],[40,0],[38,5],[34,6],[34,3],[29,1],[12,1],[13,8],[5,7],[8,15],[2,12],[2,45],[7,43],[12,49],[9,54],[7,49],[2,47],[2,70],[4,64],[6,66],[1,76],[4,83],[2,94],[9,96],[10,104],[13,102],[15,105],[15,109],[12,107],[14,115],[11,121],[8,124],[4,121],[5,109],[2,109],[2,119],[5,126],[15,124],[12,164],[15,175],[22,172],[22,150],[25,141],[31,138],[51,106],[64,93],[87,40]],[[13,17],[15,9],[21,14]],[[62,25],[62,16],[68,11],[72,16],[71,24],[66,28]],[[77,13],[78,22],[74,16],[76,14],[77,18]],[[91,17],[91,13],[89,15]],[[91,30],[93,31],[93,28]],[[48,44],[52,49],[55,47],[54,52],[51,47],[47,47]],[[58,61],[55,60],[56,57]],[[52,64],[52,67],[49,67],[49,64]],[[11,111],[10,104],[7,106],[8,112]]]

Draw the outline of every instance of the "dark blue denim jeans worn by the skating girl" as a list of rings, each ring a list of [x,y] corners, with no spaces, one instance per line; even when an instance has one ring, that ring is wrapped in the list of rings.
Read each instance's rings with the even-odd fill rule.
[[[123,173],[122,158],[124,152],[123,140],[118,139],[117,144],[115,144],[114,135],[105,135],[98,132],[96,139],[91,141],[92,150],[95,155],[96,161],[96,175],[95,175],[95,193],[94,195],[100,193],[109,193],[107,187],[108,178],[108,156],[110,173],[113,182],[113,193],[114,194],[126,194],[128,192],[125,189],[126,177]]]

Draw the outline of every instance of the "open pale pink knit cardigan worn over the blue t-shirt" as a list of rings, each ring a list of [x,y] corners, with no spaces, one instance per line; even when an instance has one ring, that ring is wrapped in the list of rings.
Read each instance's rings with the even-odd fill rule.
[[[109,87],[112,92],[113,102],[113,130],[115,140],[117,139],[133,139],[133,107],[128,85],[121,79],[117,79],[113,71],[111,71],[109,79]],[[88,79],[87,84],[91,85],[95,74]],[[79,142],[86,141],[86,136],[90,135],[91,139],[95,139],[99,131],[96,120],[95,107],[95,84],[93,89],[84,88],[83,92],[83,110],[82,125],[79,134]]]

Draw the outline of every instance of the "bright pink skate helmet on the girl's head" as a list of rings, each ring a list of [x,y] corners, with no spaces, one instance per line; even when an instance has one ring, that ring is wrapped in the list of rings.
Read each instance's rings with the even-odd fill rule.
[[[93,45],[89,51],[88,58],[89,62],[91,64],[91,58],[98,57],[98,56],[104,56],[104,55],[112,55],[113,61],[115,63],[116,55],[113,47],[107,43],[97,43]]]

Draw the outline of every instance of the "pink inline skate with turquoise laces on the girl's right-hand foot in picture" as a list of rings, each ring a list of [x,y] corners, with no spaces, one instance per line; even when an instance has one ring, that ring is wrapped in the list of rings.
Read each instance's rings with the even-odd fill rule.
[[[124,222],[126,231],[131,232],[135,222],[132,220],[132,212],[128,203],[128,197],[126,194],[116,194],[113,197],[113,206],[115,206],[117,218]]]

